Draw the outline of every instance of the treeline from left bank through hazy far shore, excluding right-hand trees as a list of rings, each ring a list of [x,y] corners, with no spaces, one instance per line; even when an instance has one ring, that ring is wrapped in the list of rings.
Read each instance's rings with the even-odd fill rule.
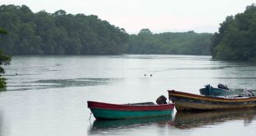
[[[113,26],[97,16],[33,13],[25,5],[0,6],[0,49],[5,54],[210,54],[211,34],[152,34],[142,29],[138,35]]]

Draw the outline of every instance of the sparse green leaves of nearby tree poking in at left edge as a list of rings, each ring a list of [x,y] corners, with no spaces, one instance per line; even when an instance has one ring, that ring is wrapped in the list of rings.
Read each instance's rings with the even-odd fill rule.
[[[0,28],[0,34],[7,34],[7,30]],[[2,65],[8,65],[11,62],[11,57],[2,54],[2,50],[0,50],[0,89],[6,87],[6,78],[2,77],[2,74],[5,73],[4,68]]]

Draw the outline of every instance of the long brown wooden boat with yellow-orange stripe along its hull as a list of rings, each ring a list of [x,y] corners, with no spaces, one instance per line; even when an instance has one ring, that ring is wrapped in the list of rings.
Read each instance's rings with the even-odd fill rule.
[[[230,110],[256,107],[256,97],[202,96],[182,91],[168,91],[176,110]]]

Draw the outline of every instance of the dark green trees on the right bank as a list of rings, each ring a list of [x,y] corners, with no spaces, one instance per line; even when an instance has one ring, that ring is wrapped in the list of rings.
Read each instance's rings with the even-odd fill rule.
[[[256,60],[256,6],[246,7],[243,13],[227,16],[219,32],[211,38],[214,59]]]

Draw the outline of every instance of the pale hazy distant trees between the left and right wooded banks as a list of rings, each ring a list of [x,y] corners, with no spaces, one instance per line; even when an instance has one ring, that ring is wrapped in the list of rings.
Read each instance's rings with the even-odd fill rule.
[[[183,33],[153,34],[142,29],[138,35],[130,35],[126,44],[127,54],[210,54],[211,34]]]

